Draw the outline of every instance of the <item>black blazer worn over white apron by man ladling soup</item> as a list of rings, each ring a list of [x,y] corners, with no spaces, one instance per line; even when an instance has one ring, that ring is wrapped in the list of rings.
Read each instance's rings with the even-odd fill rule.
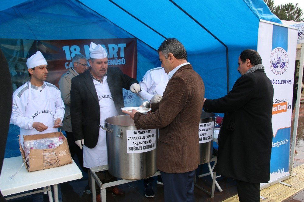
[[[71,86],[71,120],[74,140],[85,139],[85,145],[89,148],[96,146],[99,130],[102,130],[99,127],[100,108],[90,73],[91,69],[92,67],[74,77]],[[133,83],[138,84],[138,81],[123,74],[118,67],[109,67],[106,75],[117,113],[123,115],[121,112],[121,108],[124,107],[123,88],[130,90],[130,86]]]

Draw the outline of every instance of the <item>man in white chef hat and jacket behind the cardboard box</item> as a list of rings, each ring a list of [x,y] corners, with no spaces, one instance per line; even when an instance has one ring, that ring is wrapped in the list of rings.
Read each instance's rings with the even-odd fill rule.
[[[40,51],[27,59],[30,79],[13,94],[10,124],[20,127],[20,143],[23,135],[58,132],[64,117],[64,103],[60,90],[45,82],[47,61]]]

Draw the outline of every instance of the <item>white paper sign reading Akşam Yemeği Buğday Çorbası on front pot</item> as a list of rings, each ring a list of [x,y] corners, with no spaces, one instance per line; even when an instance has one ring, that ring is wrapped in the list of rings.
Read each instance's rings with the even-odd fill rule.
[[[127,153],[143,153],[156,147],[156,129],[127,130]]]

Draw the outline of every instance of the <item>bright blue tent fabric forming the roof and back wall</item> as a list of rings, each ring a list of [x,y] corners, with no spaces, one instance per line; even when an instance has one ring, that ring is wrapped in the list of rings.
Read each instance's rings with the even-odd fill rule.
[[[189,15],[227,45],[230,89],[240,76],[240,52],[257,49],[260,19],[281,23],[263,0],[2,0],[0,48],[5,39],[136,38],[140,81],[161,65],[156,52],[161,42],[174,37],[202,76],[205,97],[224,96],[226,49]]]

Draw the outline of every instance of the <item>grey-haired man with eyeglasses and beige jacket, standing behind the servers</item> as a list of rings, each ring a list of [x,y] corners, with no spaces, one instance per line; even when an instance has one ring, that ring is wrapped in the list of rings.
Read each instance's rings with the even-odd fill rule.
[[[81,54],[76,54],[72,59],[73,67],[67,70],[64,75],[61,76],[58,85],[61,92],[61,97],[64,101],[65,105],[65,114],[63,119],[63,126],[62,129],[67,134],[67,142],[71,151],[71,156],[73,157],[75,154],[78,158],[79,164],[83,171],[86,173],[88,172],[88,169],[83,167],[83,154],[82,150],[75,144],[73,132],[72,132],[72,124],[71,124],[71,85],[72,85],[72,78],[75,76],[85,72],[89,65],[88,65],[88,59]]]

